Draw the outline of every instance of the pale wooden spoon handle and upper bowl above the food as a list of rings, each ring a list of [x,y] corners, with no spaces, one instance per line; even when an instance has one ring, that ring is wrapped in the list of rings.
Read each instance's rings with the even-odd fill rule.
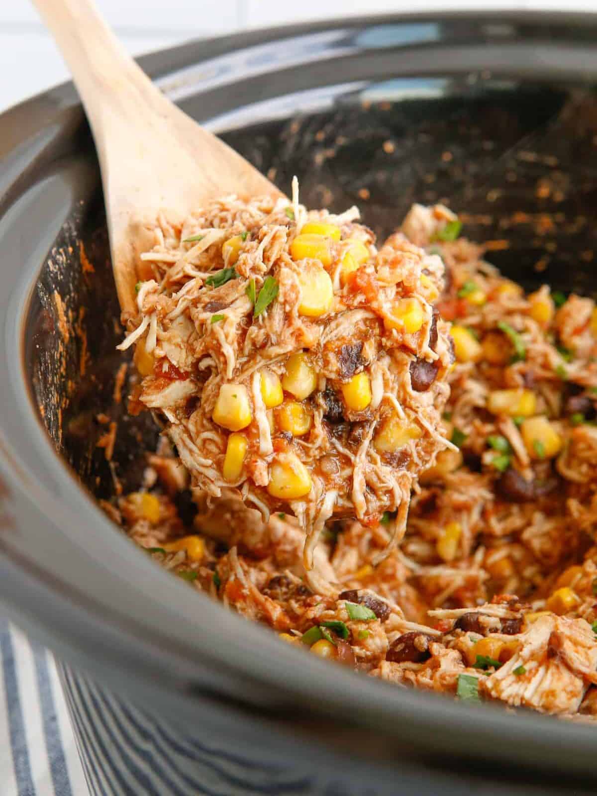
[[[159,91],[92,0],[33,0],[72,72],[96,142],[120,306],[136,311],[139,254],[158,213],[179,224],[217,197],[282,193]]]

